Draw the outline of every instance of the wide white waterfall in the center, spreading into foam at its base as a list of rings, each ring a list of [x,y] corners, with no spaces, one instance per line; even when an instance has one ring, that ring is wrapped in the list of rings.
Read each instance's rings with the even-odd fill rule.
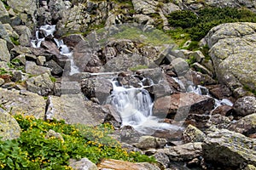
[[[178,130],[181,127],[160,122],[152,116],[154,101],[144,88],[124,88],[113,81],[113,92],[107,103],[113,105],[122,119],[122,126],[132,126],[140,133],[152,134],[156,130]]]

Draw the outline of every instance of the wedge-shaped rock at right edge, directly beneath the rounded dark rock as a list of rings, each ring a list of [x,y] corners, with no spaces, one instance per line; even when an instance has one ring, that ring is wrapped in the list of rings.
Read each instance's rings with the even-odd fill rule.
[[[256,113],[244,116],[236,122],[230,123],[229,129],[236,133],[250,136],[256,133]]]

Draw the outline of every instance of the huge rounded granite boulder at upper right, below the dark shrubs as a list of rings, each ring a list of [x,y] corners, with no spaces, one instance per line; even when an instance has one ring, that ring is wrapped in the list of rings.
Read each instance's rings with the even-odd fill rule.
[[[219,82],[256,89],[256,23],[227,23],[205,37]]]

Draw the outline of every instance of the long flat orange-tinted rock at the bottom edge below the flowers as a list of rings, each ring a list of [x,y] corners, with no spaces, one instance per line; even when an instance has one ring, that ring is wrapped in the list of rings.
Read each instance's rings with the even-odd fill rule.
[[[99,170],[103,169],[115,169],[115,170],[160,170],[160,167],[157,167],[150,163],[132,163],[129,161],[120,161],[113,159],[105,159],[97,165]]]

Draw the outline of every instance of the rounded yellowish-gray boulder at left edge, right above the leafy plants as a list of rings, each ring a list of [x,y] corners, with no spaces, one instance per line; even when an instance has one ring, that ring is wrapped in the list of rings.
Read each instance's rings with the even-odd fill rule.
[[[1,104],[0,104],[1,105]],[[0,137],[1,140],[11,140],[20,137],[20,125],[7,111],[0,107]]]

